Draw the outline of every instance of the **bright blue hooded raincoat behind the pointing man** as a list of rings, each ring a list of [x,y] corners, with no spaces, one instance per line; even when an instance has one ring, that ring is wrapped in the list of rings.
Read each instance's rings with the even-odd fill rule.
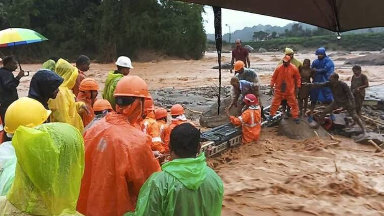
[[[316,69],[313,82],[327,82],[330,80],[331,74],[335,72],[335,64],[333,63],[333,60],[327,56],[325,48],[318,48],[316,50],[316,55],[318,54],[324,54],[325,56],[323,59],[316,59],[312,63],[311,68]],[[311,89],[311,101],[332,102],[333,96],[331,89],[328,87]]]

